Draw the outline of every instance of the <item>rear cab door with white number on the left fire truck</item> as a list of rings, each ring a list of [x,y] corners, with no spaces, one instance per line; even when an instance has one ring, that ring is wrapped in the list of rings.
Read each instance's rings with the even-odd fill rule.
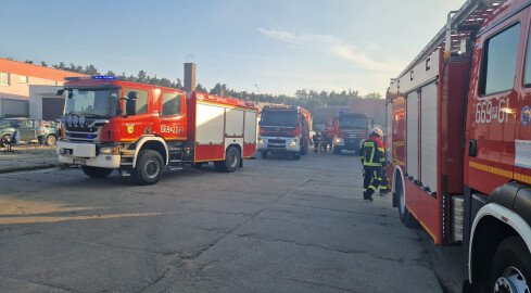
[[[162,93],[162,113],[159,133],[165,140],[186,140],[186,99],[179,92]]]

